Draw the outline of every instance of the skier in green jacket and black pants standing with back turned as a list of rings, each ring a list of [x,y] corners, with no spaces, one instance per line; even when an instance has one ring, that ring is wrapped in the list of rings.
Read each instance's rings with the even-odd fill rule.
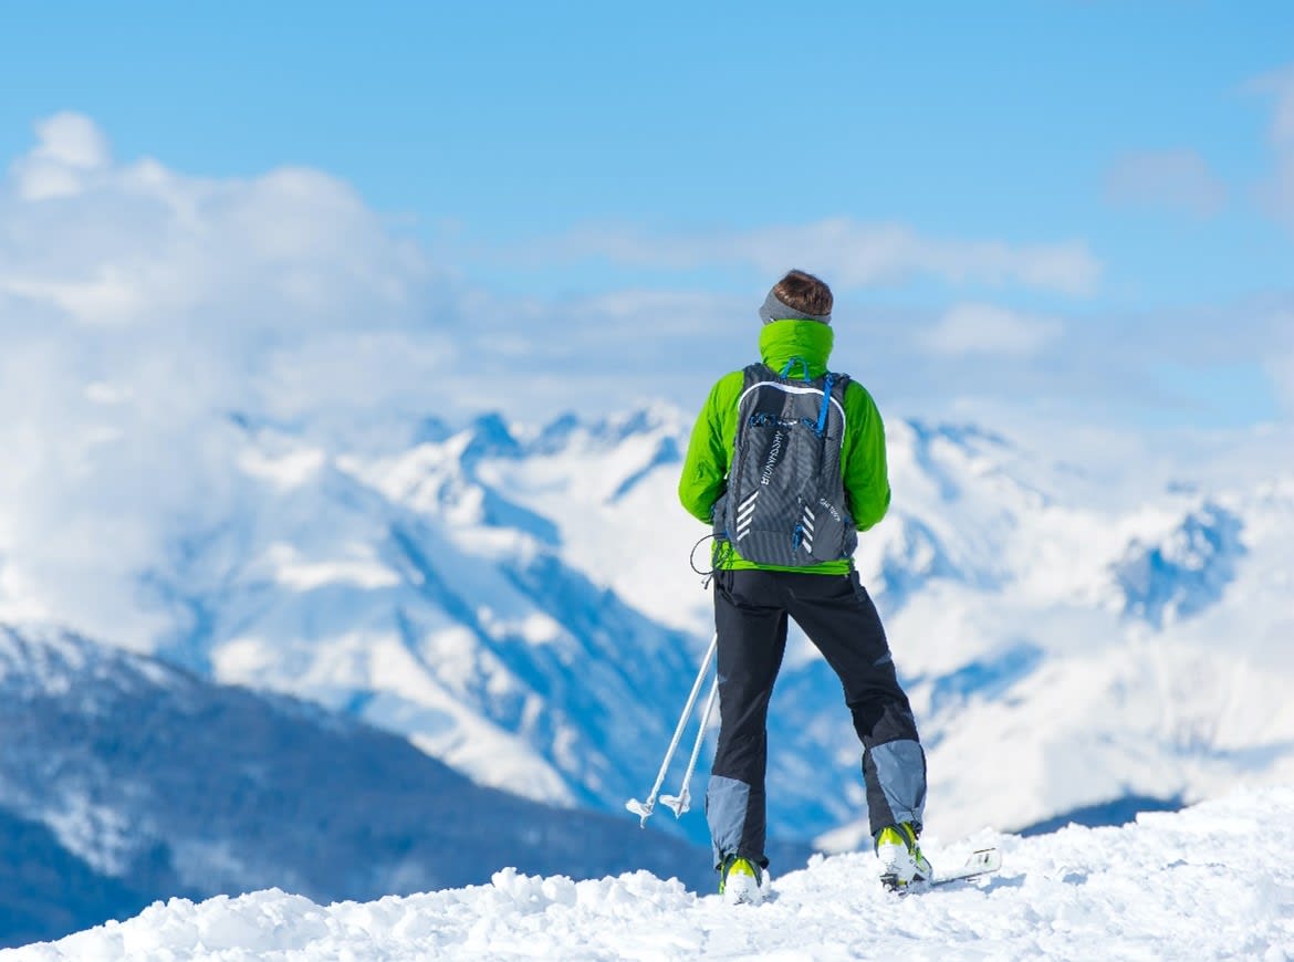
[[[719,892],[765,893],[767,712],[791,617],[844,687],[883,882],[929,878],[917,844],[925,753],[876,606],[854,570],[857,533],[890,502],[885,429],[871,394],[827,369],[831,288],[792,270],[760,308],[762,363],[719,378],[679,478],[712,524],[719,734],[705,793]]]

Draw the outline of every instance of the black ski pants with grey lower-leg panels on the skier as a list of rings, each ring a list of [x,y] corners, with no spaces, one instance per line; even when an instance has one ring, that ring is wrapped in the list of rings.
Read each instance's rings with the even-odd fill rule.
[[[920,829],[925,753],[898,683],[876,605],[858,579],[800,572],[718,572],[719,737],[705,793],[716,866],[765,856],[767,715],[795,618],[840,678],[863,743],[863,781],[875,837],[886,825]]]

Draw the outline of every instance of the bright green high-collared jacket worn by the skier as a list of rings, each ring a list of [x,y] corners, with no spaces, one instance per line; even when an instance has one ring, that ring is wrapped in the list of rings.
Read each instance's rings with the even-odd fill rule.
[[[827,371],[835,336],[829,325],[818,321],[774,321],[765,325],[760,334],[760,357],[774,371],[783,370],[791,358],[804,358],[809,366],[809,376],[819,378]],[[800,370],[800,365],[796,365],[796,370]],[[719,378],[696,418],[687,445],[678,498],[690,515],[707,524],[712,521],[714,502],[727,487],[741,384],[741,371]],[[845,416],[848,424],[840,451],[840,473],[845,481],[854,525],[859,531],[866,531],[885,516],[890,503],[890,486],[885,465],[885,427],[880,411],[867,389],[853,379],[845,390]],[[725,569],[758,568],[813,574],[848,574],[854,566],[853,559],[804,568],[757,565],[736,551],[721,552],[718,564]]]

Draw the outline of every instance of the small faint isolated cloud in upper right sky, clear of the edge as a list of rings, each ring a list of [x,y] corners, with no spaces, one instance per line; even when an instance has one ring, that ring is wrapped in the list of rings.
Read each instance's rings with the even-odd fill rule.
[[[1227,203],[1227,187],[1193,150],[1126,154],[1105,177],[1106,198],[1119,206],[1157,207],[1211,217]]]

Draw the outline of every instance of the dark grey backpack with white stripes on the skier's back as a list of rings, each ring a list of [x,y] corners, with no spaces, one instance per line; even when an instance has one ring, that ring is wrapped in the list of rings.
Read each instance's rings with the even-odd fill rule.
[[[747,561],[801,568],[854,553],[858,531],[840,475],[849,375],[810,380],[751,365],[738,401],[727,490],[714,535]]]

